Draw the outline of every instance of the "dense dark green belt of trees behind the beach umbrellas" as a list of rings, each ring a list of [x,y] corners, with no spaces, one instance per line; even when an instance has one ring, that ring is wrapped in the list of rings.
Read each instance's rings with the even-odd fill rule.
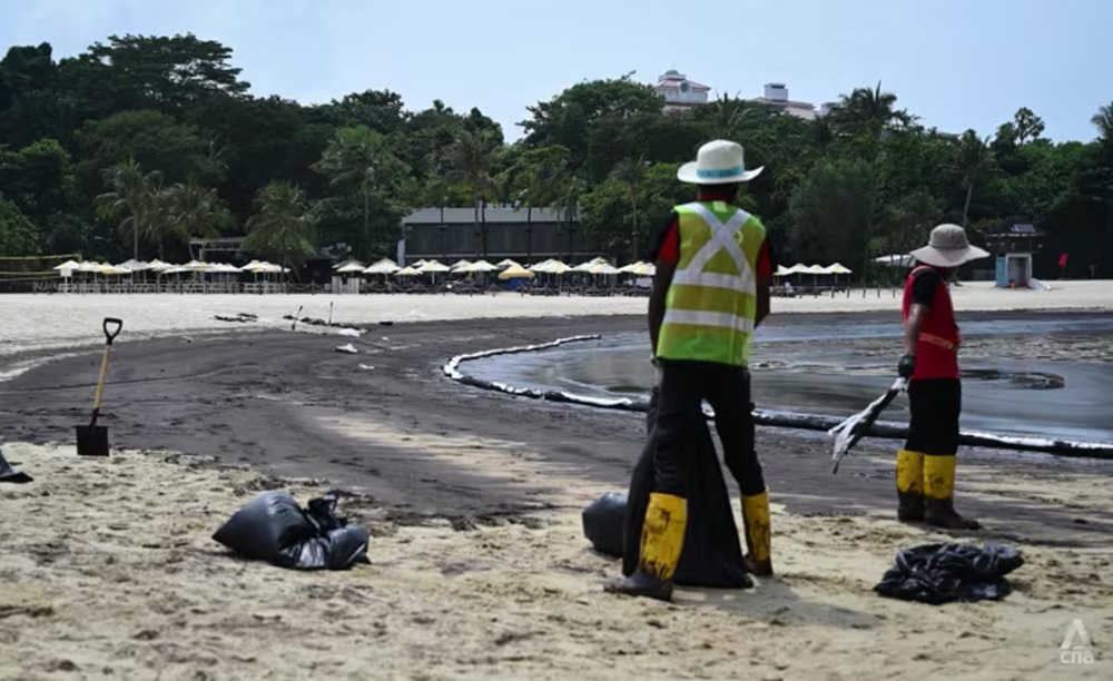
[[[0,255],[189,257],[191,236],[249,234],[296,264],[319,249],[386,255],[420,206],[555,208],[626,260],[691,188],[679,162],[713,138],[740,141],[766,172],[741,204],[782,261],[905,251],[935,224],[975,240],[1003,219],[1047,234],[1042,272],[1113,276],[1113,103],[1094,141],[1054,144],[1026,108],[989,138],[942,135],[876,87],[802,120],[723,97],[664,115],[626,78],[581,82],[528,107],[508,145],[477,109],[404,107],[368,90],[302,106],[248,95],[232,50],[194,36],[111,37],[75,58],[49,45],[0,61]]]

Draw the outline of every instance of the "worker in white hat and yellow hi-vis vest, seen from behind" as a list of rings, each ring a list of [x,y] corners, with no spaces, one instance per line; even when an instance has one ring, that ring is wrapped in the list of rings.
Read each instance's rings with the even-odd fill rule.
[[[769,314],[772,257],[761,221],[732,206],[748,170],[742,147],[716,140],[677,172],[699,186],[696,201],[673,208],[657,248],[649,333],[659,368],[654,485],[642,524],[639,568],[607,591],[672,598],[672,575],[687,525],[690,443],[701,432],[702,402],[715,409],[723,460],[742,493],[747,568],[772,574],[769,493],[754,451],[748,364],[754,332]]]

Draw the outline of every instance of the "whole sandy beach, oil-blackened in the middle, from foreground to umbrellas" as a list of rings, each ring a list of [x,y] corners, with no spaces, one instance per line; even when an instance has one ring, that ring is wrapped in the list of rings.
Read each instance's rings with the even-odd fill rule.
[[[1012,294],[1047,295],[956,298]],[[27,323],[3,340],[21,338],[10,359],[31,368],[0,383],[0,446],[37,480],[0,485],[0,513],[18,519],[0,525],[0,678],[1113,673],[1111,464],[964,452],[959,505],[986,529],[958,537],[1007,543],[1027,563],[1003,602],[932,608],[871,591],[900,547],[951,539],[892,519],[892,443],[864,443],[833,476],[824,438],[762,430],[778,576],[745,592],[681,589],[672,605],[620,599],[601,591],[618,563],[590,550],[579,514],[624,488],[639,416],[472,391],[439,367],[461,352],[640,329],[643,299],[293,298],[10,297]],[[298,305],[325,317],[331,299],[334,319],[368,332],[209,322],[243,312],[278,327]],[[593,306],[624,307],[571,318]],[[78,460],[72,426],[88,417],[99,354],[70,346],[85,326],[96,343],[112,313],[166,337],[118,347],[105,423],[124,451]],[[388,315],[413,322],[373,324]],[[334,352],[346,342],[359,353]],[[209,539],[263,490],[304,502],[332,487],[354,494],[342,512],[371,529],[371,565],[282,571]],[[1075,619],[1094,664],[1058,661]]]

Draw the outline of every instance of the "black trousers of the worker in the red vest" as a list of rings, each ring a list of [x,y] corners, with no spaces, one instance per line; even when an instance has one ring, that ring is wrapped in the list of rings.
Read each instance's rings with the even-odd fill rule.
[[[905,448],[933,456],[958,452],[958,415],[963,384],[957,378],[918,378],[908,382],[908,441]]]

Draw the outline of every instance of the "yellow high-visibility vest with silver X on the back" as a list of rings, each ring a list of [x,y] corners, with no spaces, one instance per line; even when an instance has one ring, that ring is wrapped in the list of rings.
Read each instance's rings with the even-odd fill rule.
[[[746,366],[757,318],[757,260],[766,229],[725,201],[686,204],[680,258],[664,302],[657,357]]]

